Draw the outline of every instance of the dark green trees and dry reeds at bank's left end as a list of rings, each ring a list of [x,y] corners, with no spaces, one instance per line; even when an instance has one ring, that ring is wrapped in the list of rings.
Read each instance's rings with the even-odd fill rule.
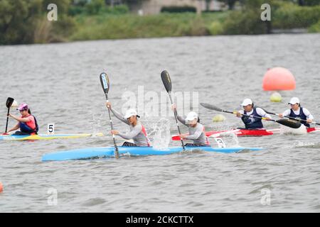
[[[66,40],[75,21],[66,16],[70,0],[0,0],[0,44]],[[48,4],[58,6],[58,21],[48,21]]]

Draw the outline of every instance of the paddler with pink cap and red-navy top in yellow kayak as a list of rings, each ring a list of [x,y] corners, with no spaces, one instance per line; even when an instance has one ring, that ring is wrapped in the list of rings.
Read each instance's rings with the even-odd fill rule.
[[[18,111],[20,111],[21,117],[9,114],[11,118],[16,119],[18,123],[14,128],[11,128],[9,132],[16,131],[20,128],[20,131],[16,131],[13,135],[35,135],[39,131],[38,123],[36,118],[31,115],[31,111],[27,104],[20,104],[18,106]]]

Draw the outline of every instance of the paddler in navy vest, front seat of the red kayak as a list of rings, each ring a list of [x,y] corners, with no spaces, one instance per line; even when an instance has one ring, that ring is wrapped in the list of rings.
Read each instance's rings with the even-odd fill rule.
[[[264,128],[261,118],[266,118],[265,120],[267,121],[271,119],[271,116],[267,114],[262,108],[255,107],[251,99],[243,100],[240,106],[243,107],[243,110],[238,111],[237,116],[241,117],[243,123],[245,123],[246,129]],[[242,114],[248,116],[243,116]]]

